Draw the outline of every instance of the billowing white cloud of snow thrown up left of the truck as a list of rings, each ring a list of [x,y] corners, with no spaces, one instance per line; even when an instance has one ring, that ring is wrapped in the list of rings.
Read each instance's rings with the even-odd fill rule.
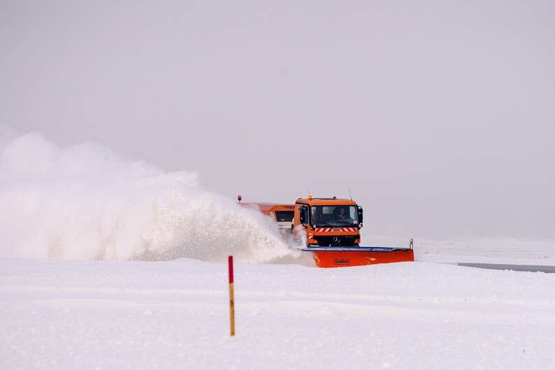
[[[0,140],[0,257],[268,262],[294,257],[270,219],[92,144]]]

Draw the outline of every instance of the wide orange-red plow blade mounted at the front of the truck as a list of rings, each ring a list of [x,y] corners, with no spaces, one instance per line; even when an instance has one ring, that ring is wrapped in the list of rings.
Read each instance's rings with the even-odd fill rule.
[[[376,265],[378,263],[414,262],[412,248],[382,246],[307,246],[317,267],[349,267]]]

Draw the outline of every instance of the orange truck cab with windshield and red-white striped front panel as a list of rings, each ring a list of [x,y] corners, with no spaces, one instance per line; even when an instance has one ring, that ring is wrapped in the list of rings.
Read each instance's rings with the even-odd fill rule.
[[[291,228],[306,231],[307,246],[359,246],[362,208],[354,200],[340,198],[298,198]]]

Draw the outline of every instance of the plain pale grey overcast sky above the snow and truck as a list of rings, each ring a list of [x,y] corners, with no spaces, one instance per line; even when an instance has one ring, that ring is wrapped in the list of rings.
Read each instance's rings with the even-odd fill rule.
[[[0,0],[0,124],[368,232],[555,237],[554,1]]]

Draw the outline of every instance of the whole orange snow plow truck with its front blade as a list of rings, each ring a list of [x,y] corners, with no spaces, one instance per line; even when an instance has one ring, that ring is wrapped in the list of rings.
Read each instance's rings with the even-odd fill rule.
[[[241,196],[238,196],[239,202]],[[258,209],[278,223],[282,232],[305,234],[302,251],[312,253],[318,267],[348,267],[377,263],[414,261],[408,248],[361,246],[363,209],[352,199],[298,198],[294,205],[243,203]],[[278,213],[283,212],[283,213]],[[290,221],[289,221],[290,220]]]

